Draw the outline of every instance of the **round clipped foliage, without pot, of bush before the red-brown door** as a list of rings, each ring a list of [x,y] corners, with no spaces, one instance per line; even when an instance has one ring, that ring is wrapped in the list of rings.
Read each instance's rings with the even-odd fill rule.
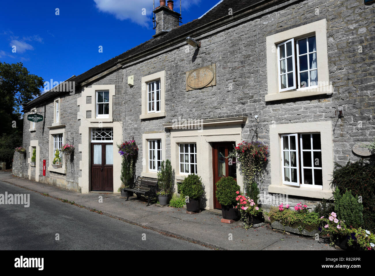
[[[221,205],[231,206],[237,203],[236,192],[241,188],[231,176],[224,176],[216,182],[216,198]],[[237,205],[237,204],[236,204]]]

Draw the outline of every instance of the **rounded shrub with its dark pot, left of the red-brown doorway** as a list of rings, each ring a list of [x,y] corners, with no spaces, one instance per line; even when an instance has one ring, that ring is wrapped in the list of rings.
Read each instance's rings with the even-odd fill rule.
[[[186,210],[196,212],[201,209],[199,199],[204,193],[204,187],[200,176],[192,173],[180,184],[180,191],[186,199]]]

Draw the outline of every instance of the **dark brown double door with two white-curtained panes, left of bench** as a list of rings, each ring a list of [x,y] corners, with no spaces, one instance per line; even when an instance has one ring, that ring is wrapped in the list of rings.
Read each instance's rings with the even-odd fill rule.
[[[113,192],[113,143],[91,143],[91,190]]]

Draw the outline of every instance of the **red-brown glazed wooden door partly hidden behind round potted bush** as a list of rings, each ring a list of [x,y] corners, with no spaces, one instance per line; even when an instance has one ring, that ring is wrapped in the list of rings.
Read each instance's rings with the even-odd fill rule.
[[[214,143],[212,151],[213,160],[213,205],[215,209],[221,209],[221,204],[216,198],[216,182],[223,176],[232,176],[237,181],[236,158],[225,158],[233,151],[235,142]]]

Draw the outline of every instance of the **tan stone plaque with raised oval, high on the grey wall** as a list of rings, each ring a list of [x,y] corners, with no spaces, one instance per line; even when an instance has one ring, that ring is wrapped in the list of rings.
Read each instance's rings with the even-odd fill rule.
[[[186,72],[186,91],[216,85],[216,63]]]

